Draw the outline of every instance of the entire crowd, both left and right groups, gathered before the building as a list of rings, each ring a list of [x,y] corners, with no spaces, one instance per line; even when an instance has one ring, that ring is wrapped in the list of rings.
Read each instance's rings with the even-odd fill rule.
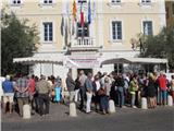
[[[135,74],[112,72],[86,75],[82,70],[76,79],[67,73],[65,80],[69,92],[69,102],[75,103],[79,110],[90,114],[94,110],[100,114],[109,112],[109,100],[113,99],[115,106],[125,108],[140,107],[140,98],[147,97],[148,108],[156,108],[157,105],[166,105],[167,95],[174,99],[174,75],[169,81],[163,72]],[[3,100],[2,108],[7,107],[11,114],[18,110],[23,116],[23,105],[29,104],[32,114],[40,116],[49,115],[50,100],[61,103],[62,79],[53,75],[40,78],[35,75],[18,75],[12,78],[7,75],[2,83]],[[16,107],[16,108],[15,108]]]

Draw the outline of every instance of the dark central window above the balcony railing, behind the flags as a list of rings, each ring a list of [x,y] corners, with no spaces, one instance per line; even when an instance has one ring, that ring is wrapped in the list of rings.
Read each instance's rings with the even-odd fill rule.
[[[80,23],[77,23],[77,37],[89,37],[89,24],[85,23],[82,27]]]

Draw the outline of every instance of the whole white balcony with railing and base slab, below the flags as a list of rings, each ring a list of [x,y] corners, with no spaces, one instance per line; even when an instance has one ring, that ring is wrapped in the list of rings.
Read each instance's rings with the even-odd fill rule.
[[[95,44],[94,38],[89,37],[78,37],[77,39],[72,39],[71,50],[96,50],[98,47]]]

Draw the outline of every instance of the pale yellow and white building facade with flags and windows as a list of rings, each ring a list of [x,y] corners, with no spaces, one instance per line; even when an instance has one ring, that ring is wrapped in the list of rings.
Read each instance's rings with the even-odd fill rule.
[[[112,58],[137,57],[139,49],[130,40],[140,33],[157,35],[166,25],[164,0],[75,0],[76,21],[72,14],[74,0],[2,2],[20,19],[37,25],[40,46],[34,57],[63,61],[63,66],[34,66],[32,72],[37,75],[65,78],[72,69],[76,78],[82,69],[92,73],[119,70],[114,64],[101,67],[100,63]]]

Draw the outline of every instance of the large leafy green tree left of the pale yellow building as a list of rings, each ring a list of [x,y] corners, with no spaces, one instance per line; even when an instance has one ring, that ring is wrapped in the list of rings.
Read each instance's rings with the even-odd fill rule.
[[[13,58],[32,57],[37,51],[38,33],[27,20],[18,20],[14,13],[1,12],[1,73],[27,73],[27,66],[13,63]]]

